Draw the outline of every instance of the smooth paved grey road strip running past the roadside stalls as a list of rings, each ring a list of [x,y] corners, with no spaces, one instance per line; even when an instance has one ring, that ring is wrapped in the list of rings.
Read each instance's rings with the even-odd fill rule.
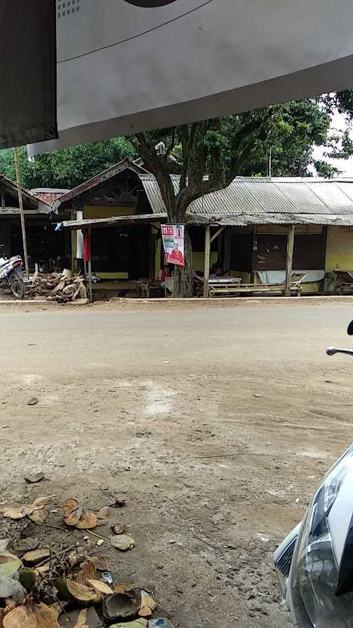
[[[352,304],[353,305],[353,304]],[[256,364],[293,366],[350,363],[328,358],[328,344],[347,346],[347,302],[254,303],[226,308],[121,311],[53,309],[0,311],[0,364],[3,376],[19,369],[58,375],[117,369],[121,374],[161,369],[236,371]],[[353,342],[352,342],[353,345]],[[169,364],[165,364],[165,360]],[[353,372],[353,362],[352,362]]]

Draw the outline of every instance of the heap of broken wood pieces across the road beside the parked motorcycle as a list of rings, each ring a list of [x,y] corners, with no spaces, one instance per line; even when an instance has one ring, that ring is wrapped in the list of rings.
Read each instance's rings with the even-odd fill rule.
[[[68,303],[77,298],[85,299],[87,291],[83,283],[83,277],[75,275],[71,271],[63,271],[62,275],[52,273],[35,273],[32,283],[26,286],[26,295],[29,297],[46,297],[48,301]]]

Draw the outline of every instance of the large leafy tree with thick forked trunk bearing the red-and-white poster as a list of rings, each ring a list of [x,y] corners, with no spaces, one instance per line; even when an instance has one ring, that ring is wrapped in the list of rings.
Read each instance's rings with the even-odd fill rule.
[[[157,179],[170,223],[187,223],[190,204],[228,186],[237,175],[309,175],[314,145],[325,144],[330,128],[327,109],[313,100],[197,122],[134,136],[145,167]],[[156,141],[165,137],[165,155],[157,155]],[[168,158],[179,150],[181,173],[175,190]],[[185,266],[174,267],[174,296],[193,294],[192,248],[185,228]]]

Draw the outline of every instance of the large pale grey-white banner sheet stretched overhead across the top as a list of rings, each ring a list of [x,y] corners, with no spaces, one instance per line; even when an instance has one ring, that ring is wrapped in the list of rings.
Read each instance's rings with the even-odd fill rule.
[[[352,23],[350,0],[57,0],[59,139],[30,154],[353,87]]]

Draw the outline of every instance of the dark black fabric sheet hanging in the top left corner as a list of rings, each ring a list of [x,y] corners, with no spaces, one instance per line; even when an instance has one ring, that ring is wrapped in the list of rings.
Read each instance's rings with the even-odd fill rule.
[[[55,0],[0,0],[0,148],[57,137]]]

